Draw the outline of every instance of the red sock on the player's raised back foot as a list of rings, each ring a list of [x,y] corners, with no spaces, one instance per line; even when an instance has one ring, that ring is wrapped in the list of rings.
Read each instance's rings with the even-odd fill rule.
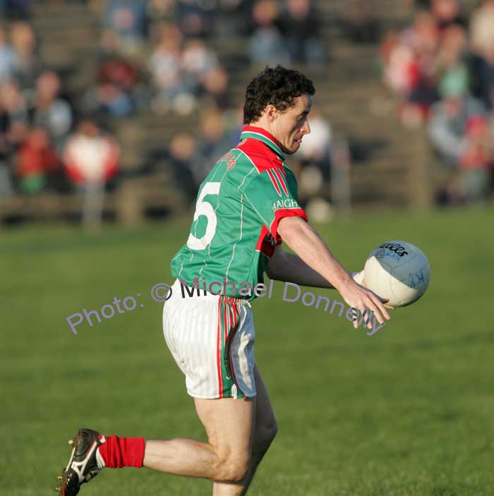
[[[106,441],[98,448],[98,451],[108,468],[143,466],[144,437],[105,437]]]

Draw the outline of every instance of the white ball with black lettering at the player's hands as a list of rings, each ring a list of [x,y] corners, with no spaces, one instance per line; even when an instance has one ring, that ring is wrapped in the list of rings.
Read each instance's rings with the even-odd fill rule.
[[[388,305],[407,306],[417,301],[430,281],[426,255],[405,241],[387,241],[375,248],[363,269],[365,286]]]

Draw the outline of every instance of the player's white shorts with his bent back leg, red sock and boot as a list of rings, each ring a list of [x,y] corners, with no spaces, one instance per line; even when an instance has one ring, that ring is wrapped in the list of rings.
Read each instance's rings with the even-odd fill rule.
[[[102,439],[95,431],[85,430],[74,438],[76,449],[61,476],[60,489],[64,496],[76,495],[80,485],[103,467],[144,464],[176,475],[212,480],[231,480],[231,474],[235,478],[239,473],[240,478],[245,475],[242,465],[248,464],[246,446],[250,447],[251,443],[255,405],[253,399],[243,399],[244,396],[255,397],[254,329],[250,308],[243,301],[235,303],[229,299],[215,298],[204,303],[204,298],[183,300],[179,291],[175,292],[176,297],[165,306],[165,339],[176,363],[186,374],[189,394],[195,398],[220,397],[196,402],[210,442],[175,439],[150,441],[146,446],[142,437]],[[230,335],[235,339],[229,339]],[[227,349],[229,342],[231,354]],[[233,370],[229,370],[227,357],[233,359]],[[240,381],[241,391],[236,387],[234,376]],[[229,423],[225,423],[225,418]],[[220,428],[224,429],[223,436],[217,434]],[[244,441],[232,441],[234,434],[239,434]],[[225,460],[228,460],[226,464]]]

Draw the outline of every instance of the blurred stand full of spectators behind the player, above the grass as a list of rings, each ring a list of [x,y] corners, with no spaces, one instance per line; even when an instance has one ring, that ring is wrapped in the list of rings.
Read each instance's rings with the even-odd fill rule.
[[[189,214],[268,64],[315,220],[493,200],[494,1],[1,0],[0,226]]]

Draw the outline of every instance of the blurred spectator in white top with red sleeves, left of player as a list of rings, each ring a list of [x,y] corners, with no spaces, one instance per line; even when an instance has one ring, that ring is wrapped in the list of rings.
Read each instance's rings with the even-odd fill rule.
[[[84,195],[83,224],[98,227],[102,220],[104,187],[119,169],[119,146],[92,119],[80,122],[64,152],[68,177]]]

